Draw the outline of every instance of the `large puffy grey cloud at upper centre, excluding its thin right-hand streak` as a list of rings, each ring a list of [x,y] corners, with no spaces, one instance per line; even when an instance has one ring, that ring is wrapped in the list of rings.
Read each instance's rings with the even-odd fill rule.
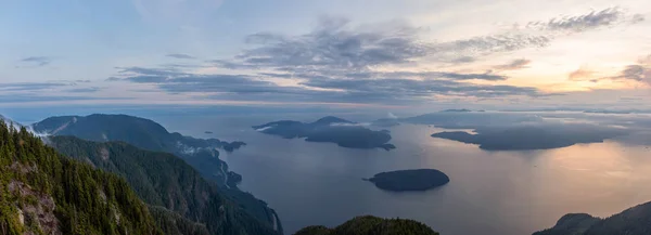
[[[243,66],[256,67],[331,69],[410,64],[433,52],[429,43],[418,40],[419,31],[419,28],[403,24],[353,29],[347,19],[324,17],[312,31],[305,35],[250,35],[245,41],[255,47],[244,50],[237,56],[237,62]],[[237,67],[230,63],[225,64]]]

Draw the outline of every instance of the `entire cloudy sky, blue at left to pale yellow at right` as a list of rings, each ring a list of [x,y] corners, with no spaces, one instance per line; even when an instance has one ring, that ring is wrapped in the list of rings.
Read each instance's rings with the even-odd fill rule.
[[[2,0],[0,107],[651,109],[651,1]]]

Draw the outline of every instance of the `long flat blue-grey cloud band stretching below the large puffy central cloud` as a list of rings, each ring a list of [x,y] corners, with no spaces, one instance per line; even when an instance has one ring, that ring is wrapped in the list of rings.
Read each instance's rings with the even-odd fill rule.
[[[534,88],[513,86],[487,86],[456,81],[454,79],[411,79],[413,73],[386,73],[386,78],[332,79],[326,76],[305,76],[296,80],[296,86],[279,86],[260,80],[253,75],[199,75],[190,73],[157,70],[155,68],[128,68],[137,70],[114,81],[155,84],[169,93],[200,94],[204,99],[233,99],[259,101],[309,101],[342,103],[413,103],[433,100],[434,95],[463,95],[467,97],[497,97],[509,95],[540,96]],[[454,73],[433,73],[436,76],[457,77],[456,79],[474,79],[493,75],[463,75]],[[277,76],[276,74],[266,74]],[[423,75],[427,75],[424,73]],[[366,77],[367,75],[357,75]],[[371,76],[375,76],[371,74]],[[387,77],[393,78],[387,78]],[[284,75],[283,75],[284,77]],[[494,76],[495,79],[502,79]]]

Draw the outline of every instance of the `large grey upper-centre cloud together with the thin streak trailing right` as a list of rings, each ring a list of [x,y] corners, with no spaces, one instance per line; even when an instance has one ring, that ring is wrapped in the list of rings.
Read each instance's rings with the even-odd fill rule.
[[[303,35],[250,35],[245,42],[251,48],[233,60],[208,62],[231,69],[368,70],[383,65],[416,65],[423,58],[471,63],[476,60],[474,55],[541,48],[551,41],[547,36],[508,31],[435,42],[421,40],[424,30],[404,23],[353,27],[345,18],[322,17]]]

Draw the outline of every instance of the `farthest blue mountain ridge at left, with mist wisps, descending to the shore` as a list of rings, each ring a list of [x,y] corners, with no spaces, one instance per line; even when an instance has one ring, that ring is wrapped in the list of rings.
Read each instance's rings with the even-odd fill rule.
[[[241,205],[248,214],[282,232],[279,221],[269,217],[273,210],[265,201],[240,191],[237,183],[241,175],[229,172],[228,165],[219,159],[216,148],[235,149],[244,145],[243,142],[183,136],[168,132],[152,120],[127,115],[51,117],[34,123],[31,128],[39,133],[71,135],[94,142],[118,141],[148,151],[174,154],[196,169],[204,179],[215,182],[225,197]]]

